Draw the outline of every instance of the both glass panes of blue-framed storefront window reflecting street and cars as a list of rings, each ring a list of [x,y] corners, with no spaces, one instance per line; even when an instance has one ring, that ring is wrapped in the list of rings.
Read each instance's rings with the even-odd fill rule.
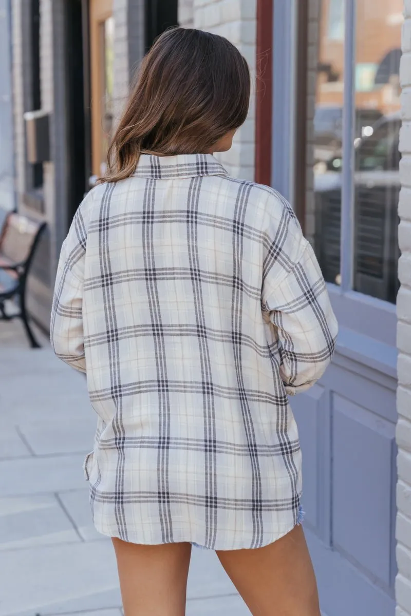
[[[357,0],[353,15],[354,72],[352,83],[345,84],[346,37],[340,40],[332,36],[335,29],[330,28],[330,15],[332,11],[336,15],[336,4],[337,0],[322,2],[320,20],[314,118],[315,250],[327,282],[343,282],[342,255],[352,272],[351,288],[395,302],[402,0]],[[339,0],[339,4],[344,7],[344,0]],[[346,28],[354,28],[354,23],[346,23]],[[344,97],[344,87],[351,88],[352,97],[347,92]],[[354,171],[344,173],[344,136],[349,134],[343,126],[343,117],[349,117],[344,113],[344,100],[350,99],[354,105]],[[348,199],[343,198],[343,193]],[[352,220],[353,237],[352,246],[343,246],[342,251],[341,208],[350,208],[351,216],[345,219]]]

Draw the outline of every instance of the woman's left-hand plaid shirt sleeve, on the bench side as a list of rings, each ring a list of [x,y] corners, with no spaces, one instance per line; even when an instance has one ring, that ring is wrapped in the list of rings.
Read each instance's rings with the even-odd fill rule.
[[[83,280],[91,193],[79,206],[63,242],[52,304],[50,338],[57,357],[86,372],[83,333]]]

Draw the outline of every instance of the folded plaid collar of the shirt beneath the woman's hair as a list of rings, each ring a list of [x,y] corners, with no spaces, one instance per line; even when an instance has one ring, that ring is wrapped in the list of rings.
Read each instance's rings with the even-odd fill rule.
[[[173,177],[227,176],[226,169],[212,154],[155,156],[141,154],[134,176],[157,180]]]

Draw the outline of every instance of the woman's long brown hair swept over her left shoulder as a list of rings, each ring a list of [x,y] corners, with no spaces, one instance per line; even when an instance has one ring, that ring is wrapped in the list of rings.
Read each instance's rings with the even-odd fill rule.
[[[142,152],[210,151],[243,124],[249,102],[250,70],[233,44],[201,30],[166,30],[142,61],[99,182],[131,176]]]

